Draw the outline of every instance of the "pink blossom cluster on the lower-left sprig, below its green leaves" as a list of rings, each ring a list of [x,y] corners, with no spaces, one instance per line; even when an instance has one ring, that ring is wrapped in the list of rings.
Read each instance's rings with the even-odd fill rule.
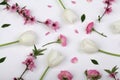
[[[28,70],[32,71],[33,68],[35,68],[34,60],[35,60],[35,57],[32,54],[30,54],[28,55],[28,58],[22,63],[27,66]]]

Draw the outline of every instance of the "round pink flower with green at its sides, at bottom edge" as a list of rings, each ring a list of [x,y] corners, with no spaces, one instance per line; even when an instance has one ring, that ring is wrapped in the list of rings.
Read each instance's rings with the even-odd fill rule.
[[[86,70],[85,72],[88,79],[100,79],[101,74],[97,70]]]

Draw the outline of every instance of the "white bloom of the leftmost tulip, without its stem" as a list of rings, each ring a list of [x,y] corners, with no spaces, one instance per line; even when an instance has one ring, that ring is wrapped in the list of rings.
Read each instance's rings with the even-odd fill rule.
[[[37,35],[33,31],[27,31],[20,35],[19,43],[27,46],[32,46],[35,44]]]

